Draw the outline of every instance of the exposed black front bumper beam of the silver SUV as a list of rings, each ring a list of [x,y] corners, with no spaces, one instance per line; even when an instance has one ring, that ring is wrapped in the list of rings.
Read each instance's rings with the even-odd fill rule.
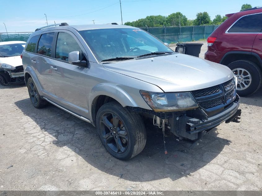
[[[185,137],[190,140],[198,139],[199,132],[211,130],[224,121],[226,123],[231,121],[239,122],[237,119],[240,118],[241,110],[238,107],[239,96],[237,95],[236,99],[224,107],[223,110],[215,115],[207,116],[204,120],[174,113],[173,118],[168,119],[171,125],[171,132],[178,137]]]

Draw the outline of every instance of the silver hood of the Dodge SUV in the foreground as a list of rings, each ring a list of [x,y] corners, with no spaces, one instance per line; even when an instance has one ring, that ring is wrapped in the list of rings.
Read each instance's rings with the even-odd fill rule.
[[[157,85],[164,92],[203,89],[233,77],[233,72],[224,65],[186,54],[121,61],[103,66],[113,72]]]

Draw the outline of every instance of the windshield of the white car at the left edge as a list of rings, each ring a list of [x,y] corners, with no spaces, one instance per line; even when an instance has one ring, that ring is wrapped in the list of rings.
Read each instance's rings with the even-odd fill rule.
[[[24,46],[25,43],[0,45],[0,57],[19,56]]]

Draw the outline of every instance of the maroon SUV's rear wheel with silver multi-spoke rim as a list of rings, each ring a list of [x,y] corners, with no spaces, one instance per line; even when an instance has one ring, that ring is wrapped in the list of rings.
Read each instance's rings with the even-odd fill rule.
[[[261,70],[253,62],[238,60],[228,64],[235,76],[238,76],[237,93],[247,96],[255,93],[261,86]]]

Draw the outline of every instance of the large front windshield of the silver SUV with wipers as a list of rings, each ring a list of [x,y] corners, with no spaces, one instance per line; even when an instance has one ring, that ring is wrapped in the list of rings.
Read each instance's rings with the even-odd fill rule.
[[[157,51],[173,52],[161,41],[141,29],[92,29],[79,31],[79,33],[99,61],[117,57],[135,58]]]

